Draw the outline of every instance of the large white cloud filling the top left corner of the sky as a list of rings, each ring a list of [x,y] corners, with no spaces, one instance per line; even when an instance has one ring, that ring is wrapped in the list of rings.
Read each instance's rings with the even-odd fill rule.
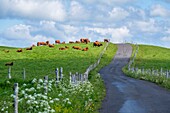
[[[1,0],[0,17],[64,21],[66,11],[59,0]]]

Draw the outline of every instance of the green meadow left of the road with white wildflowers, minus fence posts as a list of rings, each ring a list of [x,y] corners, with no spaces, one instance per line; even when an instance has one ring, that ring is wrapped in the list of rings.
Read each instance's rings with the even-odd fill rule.
[[[88,51],[72,49],[72,46],[88,47]],[[68,50],[59,50],[59,47],[68,46]],[[84,73],[89,65],[98,60],[104,49],[89,44],[59,44],[54,48],[48,46],[34,47],[33,50],[17,53],[18,48],[0,47],[0,108],[1,112],[12,112],[13,85],[19,83],[19,111],[21,112],[59,112],[79,113],[98,112],[101,100],[105,95],[105,88],[98,71],[107,65],[116,53],[116,45],[110,43],[102,56],[100,65],[89,74],[89,82],[78,85],[69,84],[69,72]],[[8,53],[5,51],[9,50]],[[11,68],[12,79],[8,79],[6,62],[14,62]],[[57,86],[55,83],[55,69],[63,67],[65,81]],[[26,70],[26,79],[23,80],[23,68]],[[48,75],[49,91],[43,94],[43,77]],[[10,96],[11,95],[11,96]],[[36,102],[33,100],[37,100]],[[44,104],[41,105],[41,103]],[[45,109],[44,109],[45,108]]]

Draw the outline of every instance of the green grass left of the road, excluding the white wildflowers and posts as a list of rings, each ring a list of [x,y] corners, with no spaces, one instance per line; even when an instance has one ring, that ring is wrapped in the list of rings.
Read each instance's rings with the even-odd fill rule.
[[[88,47],[89,51],[80,51],[72,49],[72,46],[81,46],[82,48]],[[105,46],[105,43],[103,43]],[[59,51],[59,47],[68,46],[69,49],[65,51]],[[84,73],[86,68],[95,63],[99,57],[100,52],[103,50],[104,46],[101,47],[93,47],[92,43],[89,44],[62,44],[55,45],[54,48],[49,48],[48,46],[35,47],[31,51],[24,51],[22,53],[17,53],[17,48],[10,47],[0,47],[0,99],[1,105],[4,100],[9,100],[9,95],[13,93],[12,88],[14,82],[18,82],[19,86],[26,83],[28,86],[32,87],[32,79],[42,79],[45,75],[48,75],[49,78],[55,79],[55,68],[63,67],[64,77],[68,78],[69,72],[75,73]],[[5,51],[9,50],[8,53]],[[105,89],[103,85],[103,81],[97,72],[101,67],[107,65],[114,54],[116,53],[116,46],[113,44],[109,44],[107,51],[103,55],[101,59],[101,63],[97,68],[92,71],[89,75],[90,86],[92,86],[92,92],[89,95],[86,95],[87,92],[82,92],[82,90],[88,90],[87,87],[84,89],[75,89],[75,93],[66,93],[63,89],[69,89],[70,87],[66,87],[61,84],[62,90],[53,89],[53,92],[49,93],[48,96],[55,97],[56,95],[62,93],[63,98],[70,99],[72,105],[66,105],[62,102],[58,102],[56,105],[51,105],[51,107],[57,112],[97,112],[97,109],[100,107],[100,103],[102,98],[105,95]],[[14,62],[12,66],[12,79],[7,79],[8,67],[5,66],[6,62]],[[22,71],[23,68],[26,70],[26,80],[22,79]],[[32,84],[32,85],[31,85]],[[34,84],[35,85],[35,84]],[[81,91],[80,91],[81,90]],[[7,91],[7,93],[4,93]],[[9,92],[8,92],[9,91]],[[33,92],[32,92],[33,93]],[[30,94],[33,95],[33,94]],[[91,98],[92,100],[88,101]],[[11,100],[11,99],[10,99]],[[63,99],[64,101],[64,99]],[[89,105],[87,103],[90,103]],[[61,104],[61,105],[60,105]],[[87,105],[86,105],[87,104]],[[25,104],[22,104],[25,105]],[[85,105],[87,107],[85,107]],[[32,105],[33,106],[33,105]],[[79,108],[77,108],[79,107]],[[12,108],[9,107],[9,112],[11,112]],[[21,111],[25,110],[23,106],[19,108]],[[31,109],[31,108],[30,108]]]

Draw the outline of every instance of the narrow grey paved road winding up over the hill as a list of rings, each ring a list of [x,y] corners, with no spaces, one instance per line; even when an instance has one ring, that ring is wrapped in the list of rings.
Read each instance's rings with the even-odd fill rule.
[[[118,44],[112,62],[100,70],[106,97],[100,113],[170,113],[170,91],[154,83],[127,77],[122,72],[132,53],[129,44]]]

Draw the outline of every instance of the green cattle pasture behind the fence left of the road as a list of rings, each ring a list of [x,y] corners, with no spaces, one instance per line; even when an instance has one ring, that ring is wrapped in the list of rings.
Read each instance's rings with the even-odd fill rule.
[[[89,47],[89,51],[81,51],[72,49],[72,46]],[[105,44],[104,44],[105,45]],[[59,50],[59,47],[68,46],[68,50]],[[12,66],[12,78],[22,78],[23,68],[26,70],[26,78],[33,79],[43,77],[45,75],[54,76],[54,70],[57,67],[63,67],[64,74],[76,71],[83,73],[85,69],[94,63],[99,53],[103,50],[102,47],[92,47],[90,44],[62,44],[55,45],[54,48],[48,46],[34,47],[33,50],[23,50],[16,52],[17,48],[0,48],[0,77],[4,80],[8,73],[6,62],[14,62]],[[8,53],[5,50],[9,50]]]

